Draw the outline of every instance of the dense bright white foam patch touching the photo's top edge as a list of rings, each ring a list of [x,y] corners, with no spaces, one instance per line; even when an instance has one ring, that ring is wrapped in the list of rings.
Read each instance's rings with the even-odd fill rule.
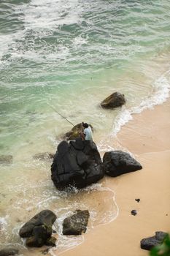
[[[81,7],[78,0],[32,0],[27,5],[15,7],[16,14],[24,21],[25,28],[56,29],[63,24],[77,23],[80,18]],[[38,33],[41,31],[37,31]]]

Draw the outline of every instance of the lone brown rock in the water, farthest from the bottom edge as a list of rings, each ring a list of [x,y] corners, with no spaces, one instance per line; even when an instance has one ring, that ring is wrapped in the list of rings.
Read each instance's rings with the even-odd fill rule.
[[[120,94],[120,92],[115,92],[109,95],[109,97],[107,97],[101,102],[101,107],[112,109],[112,108],[121,107],[124,104],[125,104],[124,94]]]

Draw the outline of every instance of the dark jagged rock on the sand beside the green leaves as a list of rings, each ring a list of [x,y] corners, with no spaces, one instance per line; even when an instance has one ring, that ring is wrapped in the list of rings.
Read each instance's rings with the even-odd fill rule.
[[[143,238],[141,241],[141,248],[150,250],[154,246],[158,246],[162,244],[163,239],[166,237],[167,233],[162,231],[155,232],[155,236],[151,236],[149,238]]]

